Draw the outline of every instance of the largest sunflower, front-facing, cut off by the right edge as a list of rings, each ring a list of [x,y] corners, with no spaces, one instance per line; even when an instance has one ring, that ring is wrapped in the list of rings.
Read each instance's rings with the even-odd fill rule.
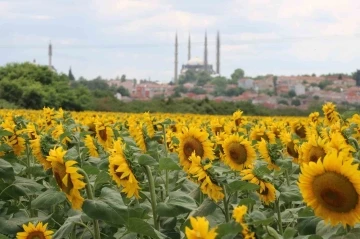
[[[360,174],[358,165],[336,152],[304,164],[299,188],[304,202],[331,225],[354,226],[360,218]]]

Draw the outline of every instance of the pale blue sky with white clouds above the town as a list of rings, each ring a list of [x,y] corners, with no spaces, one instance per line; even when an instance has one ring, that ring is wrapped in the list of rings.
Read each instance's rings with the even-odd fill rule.
[[[358,0],[0,0],[0,66],[48,64],[58,72],[170,82],[175,33],[179,68],[192,56],[221,75],[351,73],[360,68]]]

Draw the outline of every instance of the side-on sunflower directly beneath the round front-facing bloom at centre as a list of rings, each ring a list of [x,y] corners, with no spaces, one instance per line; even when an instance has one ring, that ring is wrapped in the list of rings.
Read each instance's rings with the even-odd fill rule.
[[[207,169],[211,168],[211,163],[202,165],[201,158],[195,155],[195,152],[189,157],[191,166],[188,170],[191,179],[200,185],[201,191],[208,195],[214,201],[219,201],[224,198],[222,188],[213,182]]]

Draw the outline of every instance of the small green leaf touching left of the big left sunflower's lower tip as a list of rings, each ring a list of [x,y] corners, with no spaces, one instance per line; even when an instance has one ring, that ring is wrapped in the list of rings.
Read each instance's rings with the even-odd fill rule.
[[[37,209],[47,209],[53,205],[57,205],[66,200],[66,196],[63,192],[56,191],[54,189],[49,189],[31,202],[32,208]]]

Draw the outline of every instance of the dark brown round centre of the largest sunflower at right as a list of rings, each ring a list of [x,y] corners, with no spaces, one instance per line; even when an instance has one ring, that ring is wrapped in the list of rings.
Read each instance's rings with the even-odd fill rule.
[[[359,195],[349,179],[335,172],[314,178],[313,191],[319,204],[330,211],[346,213],[356,208]]]

